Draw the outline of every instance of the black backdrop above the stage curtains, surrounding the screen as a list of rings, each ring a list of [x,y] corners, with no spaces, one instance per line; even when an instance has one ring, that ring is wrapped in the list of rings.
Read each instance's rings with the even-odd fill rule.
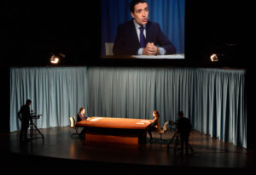
[[[55,3],[53,3],[55,2]],[[225,2],[225,3],[224,3]],[[100,0],[80,3],[4,3],[1,26],[3,58],[9,65],[49,65],[50,52],[67,55],[61,65],[212,66],[212,52],[224,54],[222,65],[244,54],[248,32],[247,6],[234,1],[186,1],[185,60],[100,59]]]

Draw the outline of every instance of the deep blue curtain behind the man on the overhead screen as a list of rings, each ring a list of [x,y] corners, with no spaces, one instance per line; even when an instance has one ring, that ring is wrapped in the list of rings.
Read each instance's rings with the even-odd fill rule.
[[[102,54],[105,42],[114,42],[118,25],[131,20],[131,0],[102,0]],[[160,24],[177,54],[184,54],[185,0],[148,0],[149,20]]]

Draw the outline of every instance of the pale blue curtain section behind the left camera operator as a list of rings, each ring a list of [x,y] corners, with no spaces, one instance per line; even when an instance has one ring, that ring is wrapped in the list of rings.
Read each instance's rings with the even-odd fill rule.
[[[86,67],[39,67],[10,69],[10,131],[20,130],[17,113],[26,99],[31,110],[43,114],[36,120],[38,128],[69,125],[87,104]]]

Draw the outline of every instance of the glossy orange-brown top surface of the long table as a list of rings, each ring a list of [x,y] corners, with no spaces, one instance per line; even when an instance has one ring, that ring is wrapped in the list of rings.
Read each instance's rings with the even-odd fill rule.
[[[94,116],[76,123],[77,127],[108,127],[121,129],[146,129],[151,120]]]

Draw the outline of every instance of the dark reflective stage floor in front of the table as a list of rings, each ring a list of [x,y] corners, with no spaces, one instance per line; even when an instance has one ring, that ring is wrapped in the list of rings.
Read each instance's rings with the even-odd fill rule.
[[[195,152],[189,155],[174,154],[173,144],[166,143],[173,132],[165,133],[164,140],[152,144],[87,144],[77,136],[70,137],[74,129],[53,127],[41,129],[41,138],[31,143],[20,143],[19,132],[1,135],[2,170],[28,174],[144,174],[144,173],[197,173],[217,174],[249,172],[253,168],[253,151],[224,143],[193,131],[189,143]],[[153,133],[154,138],[160,138]],[[11,166],[10,168],[7,166]],[[92,172],[90,172],[92,173]]]

